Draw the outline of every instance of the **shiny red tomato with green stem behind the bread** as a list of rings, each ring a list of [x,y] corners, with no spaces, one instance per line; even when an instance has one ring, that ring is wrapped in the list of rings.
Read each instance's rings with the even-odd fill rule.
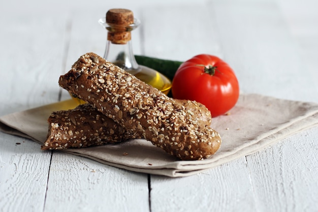
[[[239,84],[227,63],[216,56],[199,54],[178,68],[172,81],[172,96],[200,102],[215,117],[234,107]]]

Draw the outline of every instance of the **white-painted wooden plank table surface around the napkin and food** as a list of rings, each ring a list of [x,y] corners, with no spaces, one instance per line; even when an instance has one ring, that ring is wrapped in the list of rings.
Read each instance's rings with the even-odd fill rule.
[[[59,75],[89,51],[111,8],[141,19],[135,54],[225,59],[242,93],[318,102],[315,0],[0,3],[0,115],[68,99]],[[0,211],[318,211],[318,128],[183,178],[110,167],[0,133]],[[20,143],[20,144],[17,144]]]

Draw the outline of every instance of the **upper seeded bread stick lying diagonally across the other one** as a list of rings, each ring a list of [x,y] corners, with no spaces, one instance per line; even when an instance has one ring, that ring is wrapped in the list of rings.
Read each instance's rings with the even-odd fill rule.
[[[181,160],[206,159],[220,146],[201,117],[97,54],[82,55],[59,85]]]

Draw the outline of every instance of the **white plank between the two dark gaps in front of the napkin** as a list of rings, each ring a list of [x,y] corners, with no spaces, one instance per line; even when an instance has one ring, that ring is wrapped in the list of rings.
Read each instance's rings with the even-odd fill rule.
[[[56,152],[44,211],[149,211],[147,174]]]

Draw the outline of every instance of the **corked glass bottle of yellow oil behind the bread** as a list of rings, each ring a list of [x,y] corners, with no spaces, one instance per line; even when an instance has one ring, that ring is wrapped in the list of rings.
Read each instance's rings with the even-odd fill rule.
[[[126,9],[111,9],[106,13],[106,19],[100,19],[99,22],[108,31],[104,58],[164,94],[168,94],[171,81],[160,72],[138,65],[136,62],[131,31],[139,26],[140,21],[134,18],[133,12]]]

